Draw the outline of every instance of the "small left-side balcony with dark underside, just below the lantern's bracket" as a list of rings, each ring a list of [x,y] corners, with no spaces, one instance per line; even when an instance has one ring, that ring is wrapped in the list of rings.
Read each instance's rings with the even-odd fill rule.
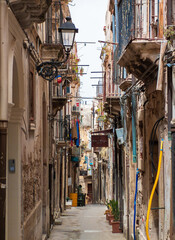
[[[58,83],[54,80],[52,85],[52,112],[53,116],[56,116],[63,106],[67,103],[66,89],[63,88],[63,83]]]

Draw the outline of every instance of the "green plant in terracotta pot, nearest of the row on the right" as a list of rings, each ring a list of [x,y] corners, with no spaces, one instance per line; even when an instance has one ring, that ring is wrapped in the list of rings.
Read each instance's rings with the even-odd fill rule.
[[[120,229],[118,201],[111,200],[111,211],[114,215],[114,219],[111,221],[112,233],[121,233],[122,230]]]

